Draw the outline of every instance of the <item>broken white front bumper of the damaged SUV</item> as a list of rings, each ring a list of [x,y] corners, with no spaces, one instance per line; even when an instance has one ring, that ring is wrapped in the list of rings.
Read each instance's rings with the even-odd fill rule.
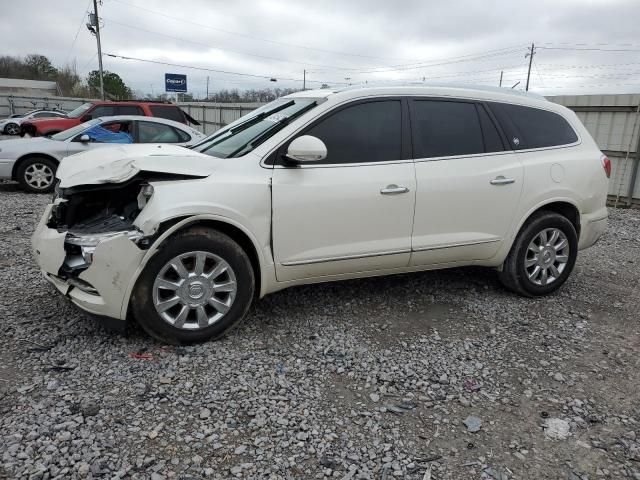
[[[125,320],[128,292],[146,251],[127,232],[110,234],[92,253],[91,263],[78,274],[63,268],[72,262],[65,248],[67,232],[49,228],[48,205],[32,237],[33,254],[44,277],[82,310],[100,317]]]

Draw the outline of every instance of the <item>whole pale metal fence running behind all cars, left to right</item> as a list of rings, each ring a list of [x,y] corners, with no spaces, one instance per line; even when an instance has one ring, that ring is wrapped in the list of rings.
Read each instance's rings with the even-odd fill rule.
[[[640,94],[575,95],[549,97],[552,102],[576,112],[600,149],[613,163],[609,184],[610,200],[615,205],[640,205]],[[34,108],[73,110],[84,98],[24,97],[0,95],[0,118]],[[182,102],[180,107],[210,134],[261,106],[261,103]]]

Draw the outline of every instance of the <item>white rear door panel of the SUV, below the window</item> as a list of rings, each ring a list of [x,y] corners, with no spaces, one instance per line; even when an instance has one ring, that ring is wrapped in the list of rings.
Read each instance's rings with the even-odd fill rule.
[[[498,251],[523,186],[515,153],[417,161],[416,177],[411,265],[483,260]]]

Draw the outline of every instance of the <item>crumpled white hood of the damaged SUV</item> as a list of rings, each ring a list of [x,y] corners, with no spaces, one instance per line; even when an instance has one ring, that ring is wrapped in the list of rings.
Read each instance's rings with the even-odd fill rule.
[[[221,160],[176,145],[114,145],[66,157],[56,176],[61,188],[122,183],[142,171],[204,178]]]

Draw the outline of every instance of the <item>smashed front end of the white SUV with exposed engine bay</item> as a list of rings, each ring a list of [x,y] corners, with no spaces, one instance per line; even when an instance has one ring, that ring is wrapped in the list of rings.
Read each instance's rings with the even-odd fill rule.
[[[45,278],[83,310],[124,320],[130,286],[158,235],[134,224],[153,197],[151,182],[187,178],[194,177],[140,172],[123,183],[56,188],[32,238]]]

